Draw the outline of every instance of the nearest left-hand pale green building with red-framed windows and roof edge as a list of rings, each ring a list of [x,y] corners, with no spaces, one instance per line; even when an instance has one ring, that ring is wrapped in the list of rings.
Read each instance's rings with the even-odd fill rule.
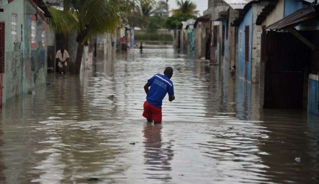
[[[0,0],[0,104],[46,83],[47,22],[42,0]]]

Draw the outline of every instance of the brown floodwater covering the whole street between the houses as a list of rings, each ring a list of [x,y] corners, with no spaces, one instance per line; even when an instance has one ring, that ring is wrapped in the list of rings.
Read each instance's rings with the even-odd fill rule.
[[[48,74],[3,106],[0,183],[318,183],[319,120],[263,109],[258,86],[171,48],[131,50],[97,72]],[[143,86],[172,66],[163,123],[142,117]]]

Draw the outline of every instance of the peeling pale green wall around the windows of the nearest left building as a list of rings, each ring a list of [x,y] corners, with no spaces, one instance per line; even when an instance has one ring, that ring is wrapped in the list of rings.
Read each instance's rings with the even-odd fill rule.
[[[0,21],[5,22],[5,73],[2,78],[5,103],[46,82],[47,50],[46,45],[42,47],[41,44],[42,28],[46,23],[40,15],[36,21],[36,47],[31,48],[31,15],[36,11],[28,1],[14,0],[3,9]],[[16,42],[11,40],[12,13],[17,14]],[[44,30],[46,32],[46,28]]]

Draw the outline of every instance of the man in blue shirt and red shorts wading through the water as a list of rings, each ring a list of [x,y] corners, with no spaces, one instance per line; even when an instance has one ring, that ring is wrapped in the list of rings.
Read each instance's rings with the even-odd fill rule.
[[[144,90],[147,96],[143,116],[147,118],[148,122],[154,120],[154,124],[161,123],[161,104],[167,92],[169,101],[175,99],[173,82],[170,81],[172,76],[173,69],[166,67],[164,75],[156,74],[145,84]]]

